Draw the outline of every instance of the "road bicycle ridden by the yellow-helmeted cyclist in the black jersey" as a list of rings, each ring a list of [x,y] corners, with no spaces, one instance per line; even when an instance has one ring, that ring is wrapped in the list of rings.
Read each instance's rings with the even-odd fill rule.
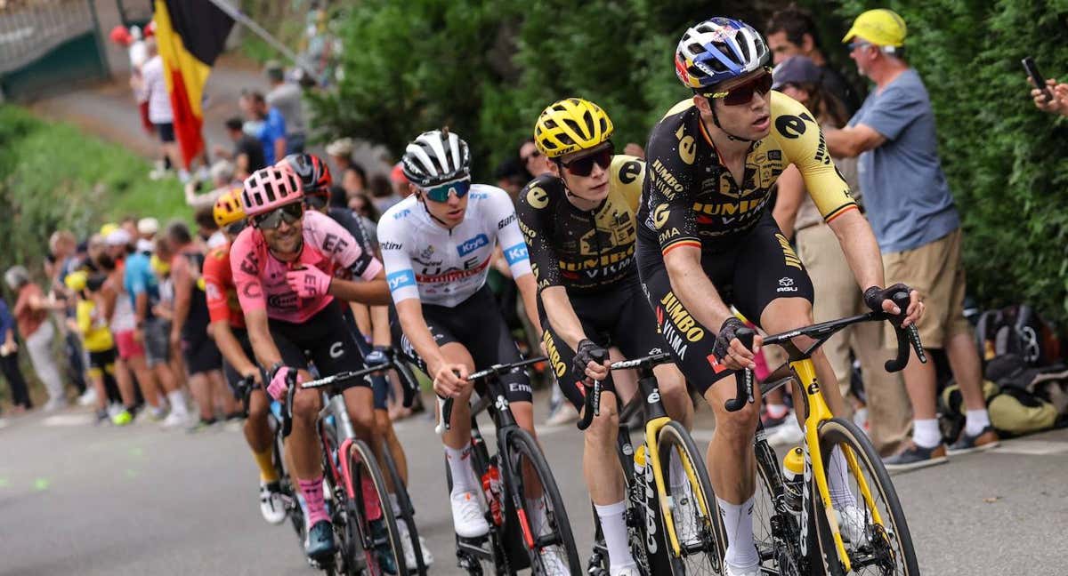
[[[642,445],[634,450],[630,431],[622,419],[616,436],[616,453],[626,483],[625,518],[631,556],[643,575],[721,574],[726,537],[704,458],[686,428],[668,416],[653,373],[657,365],[672,362],[671,354],[659,352],[610,367],[637,369],[638,398],[644,399]],[[579,430],[585,430],[599,415],[600,393],[599,382],[586,388]],[[670,481],[673,461],[685,471],[681,492],[674,490]],[[596,513],[594,524],[594,548],[586,573],[607,576],[608,548]]]

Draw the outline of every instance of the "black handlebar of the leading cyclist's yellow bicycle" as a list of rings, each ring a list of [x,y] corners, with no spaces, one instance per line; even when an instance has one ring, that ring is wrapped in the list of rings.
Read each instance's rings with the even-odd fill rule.
[[[835,332],[849,326],[851,324],[857,324],[859,322],[873,322],[873,321],[883,321],[889,320],[894,325],[894,333],[897,335],[897,355],[894,358],[886,361],[883,367],[888,372],[897,372],[905,368],[909,363],[909,348],[912,348],[916,353],[916,357],[920,362],[927,364],[927,355],[924,353],[923,343],[920,341],[920,331],[916,330],[916,325],[910,324],[908,327],[900,327],[900,322],[905,320],[906,310],[909,307],[909,294],[907,292],[898,291],[891,295],[890,298],[894,304],[900,308],[900,314],[891,315],[885,311],[870,311],[860,316],[853,316],[850,318],[843,318],[839,320],[832,320],[829,322],[821,322],[818,324],[813,324],[811,326],[805,326],[802,329],[791,330],[789,332],[784,332],[782,334],[776,334],[774,336],[768,336],[764,339],[765,345],[780,343],[788,341],[790,338],[796,336],[808,336],[815,338],[817,342],[813,345],[807,352],[811,352],[815,348],[822,345],[831,337]],[[748,333],[748,334],[747,334]],[[738,339],[742,341],[745,348],[753,348],[753,335],[755,332],[750,329],[740,329],[737,332]],[[744,339],[743,339],[744,337]],[[735,379],[737,386],[735,398],[724,402],[724,407],[728,412],[737,412],[741,410],[747,403],[753,402],[753,373],[748,368],[743,370],[743,375],[740,379]]]

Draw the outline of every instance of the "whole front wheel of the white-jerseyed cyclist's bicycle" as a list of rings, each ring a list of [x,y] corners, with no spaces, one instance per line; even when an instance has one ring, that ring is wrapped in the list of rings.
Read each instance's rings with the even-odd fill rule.
[[[520,528],[535,575],[582,574],[571,525],[564,499],[549,464],[529,432],[517,429],[508,434],[506,489],[516,506]],[[523,468],[534,478],[523,476]],[[536,484],[532,484],[532,482]],[[527,494],[536,496],[528,498]]]

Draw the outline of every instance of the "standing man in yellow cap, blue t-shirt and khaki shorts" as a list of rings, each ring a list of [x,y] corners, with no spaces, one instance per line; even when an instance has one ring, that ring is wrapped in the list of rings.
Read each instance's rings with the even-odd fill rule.
[[[849,43],[857,68],[870,78],[868,94],[849,126],[824,133],[831,156],[859,156],[858,171],[867,217],[882,252],[888,282],[920,290],[927,315],[917,324],[926,348],[945,349],[960,384],[968,421],[948,453],[998,445],[980,389],[981,371],[971,326],[963,316],[960,217],[938,155],[934,114],[927,89],[902,60],[906,26],[889,10],[870,10],[854,20]],[[895,341],[893,337],[888,341]],[[912,443],[886,460],[890,469],[946,461],[934,415],[933,364],[913,355],[905,369],[912,401]]]

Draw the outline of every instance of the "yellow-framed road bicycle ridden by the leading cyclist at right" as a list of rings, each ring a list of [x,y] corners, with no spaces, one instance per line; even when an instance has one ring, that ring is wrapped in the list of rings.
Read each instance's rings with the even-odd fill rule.
[[[909,304],[909,295],[904,291],[895,293],[892,300],[901,310]],[[805,420],[804,437],[785,461],[780,461],[764,428],[757,425],[759,481],[753,527],[761,574],[920,574],[900,500],[879,453],[852,421],[833,417],[812,362],[813,352],[836,332],[860,322],[885,320],[895,322],[896,327],[901,318],[873,311],[764,339],[763,346],[783,347],[789,359],[759,384],[760,396],[792,382],[795,405],[803,405]],[[915,325],[896,327],[896,334],[897,355],[885,363],[888,371],[905,367],[910,345],[916,357],[927,362]],[[738,335],[748,348],[752,348],[753,336],[749,329]],[[815,342],[800,350],[791,340],[798,336],[807,336]],[[737,397],[726,401],[728,411],[741,410],[754,401],[752,373],[745,370],[736,382]],[[832,459],[836,458],[845,462],[849,490],[848,495],[841,494],[837,498],[832,497],[829,480]],[[782,471],[781,462],[789,477]],[[855,500],[855,505],[850,500]],[[844,512],[835,505],[850,510]]]

